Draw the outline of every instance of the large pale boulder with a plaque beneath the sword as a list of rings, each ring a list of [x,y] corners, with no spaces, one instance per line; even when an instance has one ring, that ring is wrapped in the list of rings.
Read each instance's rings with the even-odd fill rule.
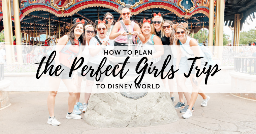
[[[102,84],[126,83],[136,77],[106,78]],[[141,83],[143,82],[159,84],[160,87],[154,90],[149,89],[146,96],[136,100],[124,97],[118,91],[104,92],[104,89],[100,89],[98,92],[101,93],[95,93],[89,99],[89,105],[84,115],[85,122],[91,126],[103,128],[145,127],[178,121],[177,112],[168,90],[164,89],[162,80],[158,77],[154,78],[152,75],[145,75]],[[157,90],[159,92],[155,92]]]

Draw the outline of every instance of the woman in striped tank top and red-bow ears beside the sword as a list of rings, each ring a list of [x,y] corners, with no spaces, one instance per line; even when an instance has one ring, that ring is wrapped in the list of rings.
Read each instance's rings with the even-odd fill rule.
[[[161,55],[163,55],[163,53],[164,53],[163,44],[161,42],[161,39],[158,36],[151,34],[150,22],[152,22],[152,20],[143,19],[141,22],[143,22],[142,26],[141,26],[141,31],[142,31],[143,35],[145,36],[146,41],[143,42],[139,39],[137,50],[141,51],[141,52],[149,51],[149,52],[152,52],[152,55],[139,55],[139,57],[152,58],[152,59],[148,60],[147,63],[149,65],[151,64],[151,62],[153,62],[153,64],[155,64],[161,60]],[[152,39],[153,39],[153,42],[152,42]],[[159,64],[159,65],[161,65],[161,64]],[[144,66],[144,65],[141,64],[141,66]]]

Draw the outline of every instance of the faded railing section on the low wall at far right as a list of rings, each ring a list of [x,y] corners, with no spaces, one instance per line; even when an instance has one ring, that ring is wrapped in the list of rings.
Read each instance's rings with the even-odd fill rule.
[[[256,75],[256,57],[251,57],[251,56],[234,57],[234,70],[236,72]]]

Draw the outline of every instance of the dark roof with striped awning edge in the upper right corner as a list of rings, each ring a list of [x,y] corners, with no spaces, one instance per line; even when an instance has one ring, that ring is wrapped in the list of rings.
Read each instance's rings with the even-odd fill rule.
[[[256,0],[226,0],[225,3],[225,13],[224,20],[226,21],[224,25],[234,27],[235,14],[241,14],[241,26],[242,30],[243,23],[246,22],[247,18],[255,18],[256,12]],[[253,20],[252,20],[253,21]]]

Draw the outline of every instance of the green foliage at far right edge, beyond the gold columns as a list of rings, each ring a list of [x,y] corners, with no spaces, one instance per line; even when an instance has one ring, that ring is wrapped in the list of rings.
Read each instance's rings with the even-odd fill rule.
[[[256,41],[256,29],[250,29],[249,31],[240,32],[240,45],[248,45],[249,43],[253,43]]]

